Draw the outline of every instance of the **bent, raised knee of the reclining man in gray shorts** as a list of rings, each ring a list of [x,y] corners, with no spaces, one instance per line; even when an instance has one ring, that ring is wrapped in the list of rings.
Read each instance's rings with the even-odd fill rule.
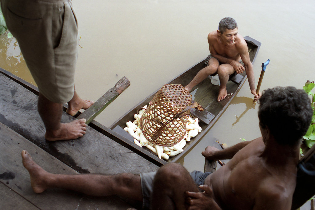
[[[199,192],[186,168],[177,163],[161,167],[154,178],[151,209],[186,209],[186,191]]]

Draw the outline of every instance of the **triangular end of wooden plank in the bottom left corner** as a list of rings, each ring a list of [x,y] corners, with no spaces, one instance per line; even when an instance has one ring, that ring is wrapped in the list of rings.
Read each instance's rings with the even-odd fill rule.
[[[39,209],[0,182],[0,209]]]

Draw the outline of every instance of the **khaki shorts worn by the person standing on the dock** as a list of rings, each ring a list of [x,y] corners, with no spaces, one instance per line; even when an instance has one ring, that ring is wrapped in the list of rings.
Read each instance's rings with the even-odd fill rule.
[[[71,0],[1,0],[39,92],[54,103],[74,94],[78,27]]]

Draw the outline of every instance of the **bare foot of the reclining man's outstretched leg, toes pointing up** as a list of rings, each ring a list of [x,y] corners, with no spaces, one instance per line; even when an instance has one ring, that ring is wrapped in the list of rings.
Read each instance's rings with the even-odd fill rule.
[[[48,174],[42,167],[33,161],[30,153],[26,150],[22,151],[23,166],[27,169],[31,178],[31,186],[35,193],[41,193],[47,189],[45,184],[45,176]]]

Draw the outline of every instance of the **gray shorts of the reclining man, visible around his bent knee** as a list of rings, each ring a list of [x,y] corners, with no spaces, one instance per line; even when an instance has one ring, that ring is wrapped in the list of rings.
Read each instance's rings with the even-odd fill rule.
[[[153,179],[157,172],[149,172],[149,173],[141,173],[141,190],[142,190],[142,208],[149,209],[150,208],[150,196],[153,190]],[[209,176],[210,172],[203,173],[201,171],[193,171],[190,173],[190,176],[195,181],[196,185],[203,185],[204,179]]]

